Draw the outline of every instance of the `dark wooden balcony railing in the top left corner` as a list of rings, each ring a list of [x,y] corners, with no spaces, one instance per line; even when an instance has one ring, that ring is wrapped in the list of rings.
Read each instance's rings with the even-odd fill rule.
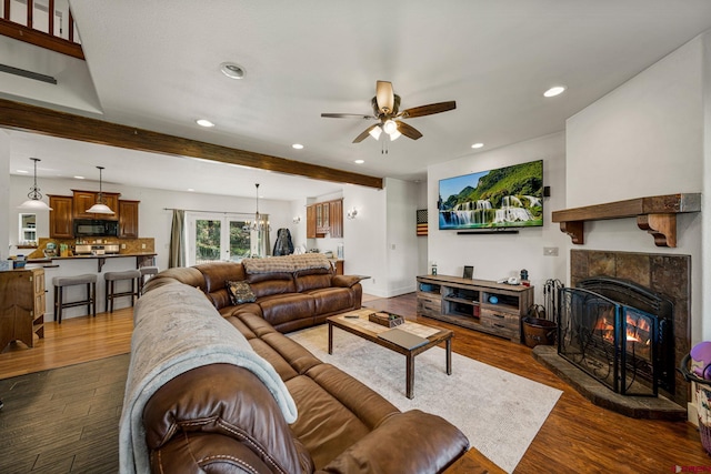
[[[84,59],[68,0],[2,0],[0,34]]]

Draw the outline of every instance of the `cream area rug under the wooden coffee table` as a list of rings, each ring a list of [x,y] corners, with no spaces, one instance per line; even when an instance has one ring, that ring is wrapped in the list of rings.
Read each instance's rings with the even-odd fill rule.
[[[399,410],[420,409],[448,420],[473,447],[508,473],[521,461],[562,394],[455,352],[452,375],[448,376],[444,350],[432,347],[414,359],[414,399],[409,400],[403,355],[336,327],[333,355],[329,355],[327,325],[289,337],[363,382]]]

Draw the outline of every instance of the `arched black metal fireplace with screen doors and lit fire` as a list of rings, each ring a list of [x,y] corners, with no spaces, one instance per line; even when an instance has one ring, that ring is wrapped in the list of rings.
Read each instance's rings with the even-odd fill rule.
[[[561,290],[558,353],[615,393],[674,393],[673,302],[625,279]]]

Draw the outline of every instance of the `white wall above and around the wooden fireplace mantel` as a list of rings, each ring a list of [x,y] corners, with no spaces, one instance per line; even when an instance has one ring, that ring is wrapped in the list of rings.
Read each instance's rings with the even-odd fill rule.
[[[710,85],[703,73],[709,71],[709,38],[692,40],[568,120],[570,208],[678,192],[709,194]],[[703,221],[702,213],[679,215],[675,249],[655,246],[634,219],[585,223],[581,249],[691,255],[695,343],[711,337],[703,317],[703,309],[711,307],[703,291],[711,271],[708,256],[702,263],[702,231],[709,225]]]

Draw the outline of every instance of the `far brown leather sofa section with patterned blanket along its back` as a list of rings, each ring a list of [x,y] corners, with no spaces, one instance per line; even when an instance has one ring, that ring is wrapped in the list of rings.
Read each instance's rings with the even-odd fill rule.
[[[282,333],[321,324],[328,316],[357,310],[363,294],[359,276],[336,275],[329,260],[319,254],[169,269],[149,280],[144,291],[171,280],[202,290],[223,316],[257,314]],[[233,305],[226,285],[228,281],[248,282],[257,301]]]

